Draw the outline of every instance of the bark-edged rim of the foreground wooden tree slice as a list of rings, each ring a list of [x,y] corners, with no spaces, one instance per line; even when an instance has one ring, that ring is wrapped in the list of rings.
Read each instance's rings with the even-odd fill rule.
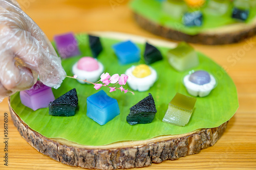
[[[20,135],[37,151],[52,159],[84,168],[118,169],[149,166],[164,160],[175,160],[198,154],[214,145],[226,129],[227,122],[217,128],[200,129],[182,135],[167,135],[143,141],[123,141],[91,147],[63,139],[47,138],[32,130],[10,106],[13,123]]]

